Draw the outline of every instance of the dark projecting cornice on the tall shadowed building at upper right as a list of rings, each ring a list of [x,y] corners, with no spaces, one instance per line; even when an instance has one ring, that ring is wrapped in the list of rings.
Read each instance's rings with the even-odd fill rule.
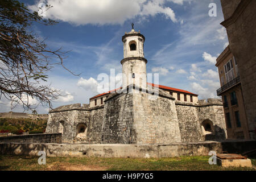
[[[251,0],[242,0],[237,6],[237,9],[234,11],[234,13],[228,19],[224,20],[220,24],[227,28],[231,24],[236,22],[237,18],[243,13],[243,11],[246,9],[247,5],[249,5],[250,2]]]

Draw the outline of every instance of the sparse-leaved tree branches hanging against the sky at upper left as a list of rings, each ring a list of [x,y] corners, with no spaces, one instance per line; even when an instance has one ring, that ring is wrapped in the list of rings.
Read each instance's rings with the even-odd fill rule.
[[[44,40],[30,31],[32,23],[51,26],[57,22],[32,13],[19,1],[0,1],[0,100],[5,97],[11,101],[12,109],[17,104],[35,109],[29,102],[31,98],[51,107],[51,101],[60,96],[59,90],[42,83],[54,64],[64,67],[67,52],[50,51]]]

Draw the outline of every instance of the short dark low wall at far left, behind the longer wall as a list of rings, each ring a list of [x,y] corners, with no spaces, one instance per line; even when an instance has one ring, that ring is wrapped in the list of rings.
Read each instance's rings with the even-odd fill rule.
[[[19,142],[19,143],[61,143],[61,133],[44,133],[30,135],[14,135],[0,137],[0,142]]]

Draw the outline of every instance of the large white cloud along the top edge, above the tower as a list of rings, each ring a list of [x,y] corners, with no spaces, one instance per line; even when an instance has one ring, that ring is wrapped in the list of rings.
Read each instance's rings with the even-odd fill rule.
[[[37,11],[36,5],[28,6],[29,9]],[[182,4],[183,1],[174,1]],[[163,14],[166,18],[176,22],[175,13],[170,7],[165,7],[165,0],[47,0],[48,5],[53,7],[46,11],[46,18],[63,20],[72,24],[122,24],[127,19],[141,16],[155,16]]]

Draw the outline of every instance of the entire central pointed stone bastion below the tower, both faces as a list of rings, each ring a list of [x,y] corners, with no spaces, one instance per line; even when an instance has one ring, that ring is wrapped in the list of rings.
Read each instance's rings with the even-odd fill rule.
[[[137,90],[138,91],[138,90]],[[162,91],[116,94],[105,102],[102,143],[181,142],[174,98]]]

